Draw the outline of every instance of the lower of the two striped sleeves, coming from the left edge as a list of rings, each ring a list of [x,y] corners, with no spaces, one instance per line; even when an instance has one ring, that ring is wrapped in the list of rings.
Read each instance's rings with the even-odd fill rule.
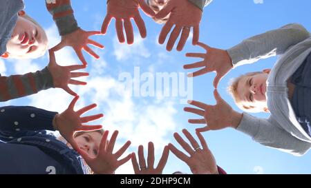
[[[8,101],[13,98],[20,98],[36,94],[41,90],[54,87],[53,78],[45,67],[41,71],[23,75],[1,76],[0,77],[0,101]]]

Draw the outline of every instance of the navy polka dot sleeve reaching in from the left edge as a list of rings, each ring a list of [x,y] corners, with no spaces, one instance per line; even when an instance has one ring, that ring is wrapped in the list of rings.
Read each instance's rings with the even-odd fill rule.
[[[43,129],[55,131],[53,118],[56,114],[29,106],[0,107],[0,133],[12,136]]]

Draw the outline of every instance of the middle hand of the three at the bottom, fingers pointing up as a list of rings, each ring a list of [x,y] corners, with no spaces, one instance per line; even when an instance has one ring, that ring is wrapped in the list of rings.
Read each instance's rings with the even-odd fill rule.
[[[139,165],[135,156],[135,153],[132,154],[132,164],[135,174],[162,174],[162,171],[167,164],[167,158],[169,158],[169,147],[165,146],[163,149],[162,156],[156,168],[154,165],[154,145],[153,143],[148,144],[148,157],[147,157],[147,165],[146,160],[144,158],[144,147],[140,145],[138,147],[138,158]]]

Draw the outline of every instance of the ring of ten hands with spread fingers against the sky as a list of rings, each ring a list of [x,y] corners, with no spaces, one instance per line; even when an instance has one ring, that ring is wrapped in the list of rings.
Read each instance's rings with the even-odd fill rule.
[[[132,0],[126,1],[126,3],[123,0],[108,0],[107,14],[104,18],[102,30],[100,32],[84,31],[79,28],[71,34],[62,36],[62,41],[54,48],[49,50],[50,63],[48,64],[48,70],[50,70],[50,73],[53,77],[54,86],[62,88],[68,92],[68,94],[75,96],[73,101],[68,106],[68,109],[55,116],[53,125],[55,126],[55,129],[59,130],[60,134],[68,141],[68,143],[70,143],[73,149],[81,154],[89,167],[91,167],[91,169],[95,172],[95,174],[113,174],[118,167],[129,160],[132,161],[135,174],[162,174],[170,151],[178,158],[180,158],[180,160],[189,165],[193,174],[217,174],[218,169],[216,160],[207,147],[207,143],[202,134],[200,134],[200,132],[206,132],[209,130],[232,127],[233,123],[232,118],[230,117],[232,113],[234,113],[234,110],[220,97],[217,90],[214,91],[214,96],[217,101],[216,105],[207,105],[198,101],[189,101],[190,105],[194,105],[200,109],[194,107],[185,107],[184,109],[186,112],[191,112],[202,116],[202,118],[199,119],[189,119],[189,123],[206,124],[205,127],[196,129],[196,135],[200,140],[201,146],[186,129],[183,129],[182,132],[185,134],[191,145],[189,145],[178,133],[175,133],[173,136],[180,144],[180,146],[185,149],[187,154],[181,152],[170,143],[164,147],[162,157],[160,158],[156,168],[154,167],[155,154],[153,143],[149,143],[148,145],[147,164],[144,158],[144,147],[142,145],[138,147],[138,160],[135,153],[129,154],[125,158],[119,159],[124,154],[124,152],[126,152],[126,149],[129,148],[131,142],[127,141],[120,149],[117,150],[117,152],[113,153],[118,134],[117,131],[113,132],[110,139],[108,139],[109,131],[104,132],[100,143],[99,152],[95,158],[88,156],[88,154],[75,142],[73,137],[75,132],[102,129],[102,125],[85,125],[84,123],[95,121],[104,116],[103,114],[96,114],[92,116],[81,117],[82,114],[95,108],[96,104],[88,105],[77,111],[74,110],[75,103],[77,103],[79,96],[77,96],[73,90],[70,90],[68,85],[86,85],[86,82],[77,81],[75,78],[88,76],[87,72],[73,72],[86,68],[87,63],[84,59],[84,55],[82,54],[82,50],[86,51],[95,59],[100,58],[100,56],[98,56],[91,48],[89,48],[88,45],[93,45],[101,49],[104,48],[104,45],[89,39],[89,37],[93,35],[106,34],[111,23],[111,19],[113,18],[115,19],[115,29],[117,32],[117,38],[120,43],[125,42],[123,29],[125,30],[127,43],[132,44],[134,42],[131,19],[133,19],[138,26],[140,36],[145,38],[147,36],[147,30],[144,25],[144,21],[140,16],[139,8],[141,8],[142,11],[147,14],[147,16],[156,19],[163,19],[164,17],[169,16],[169,19],[164,24],[158,39],[158,42],[163,44],[167,39],[171,28],[174,26],[167,42],[168,51],[173,49],[173,45],[176,43],[180,33],[180,41],[178,42],[176,49],[181,51],[189,37],[191,28],[193,28],[193,45],[199,45],[200,47],[204,48],[206,52],[186,54],[186,56],[189,57],[203,59],[202,61],[184,66],[184,68],[187,70],[200,68],[200,70],[189,74],[189,76],[195,77],[206,74],[208,72],[216,72],[214,87],[217,87],[220,79],[222,79],[223,76],[225,76],[225,74],[227,74],[227,72],[232,69],[232,61],[229,57],[229,54],[227,54],[225,50],[211,48],[208,45],[199,42],[199,24],[202,18],[202,11],[189,3],[188,0],[170,0],[167,5],[164,6],[160,12],[158,12],[158,14],[153,12],[153,10],[149,8],[144,0]],[[79,60],[82,61],[82,65],[60,66],[56,63],[54,52],[61,50],[66,46],[70,46],[73,48],[73,50],[75,50]]]

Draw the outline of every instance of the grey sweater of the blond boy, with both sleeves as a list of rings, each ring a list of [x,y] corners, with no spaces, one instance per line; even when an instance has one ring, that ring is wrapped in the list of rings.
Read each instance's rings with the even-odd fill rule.
[[[265,32],[227,50],[234,67],[259,59],[281,55],[267,79],[269,118],[247,113],[238,130],[262,145],[301,156],[311,147],[311,138],[303,130],[288,99],[287,81],[311,52],[310,33],[299,24],[285,25]]]

